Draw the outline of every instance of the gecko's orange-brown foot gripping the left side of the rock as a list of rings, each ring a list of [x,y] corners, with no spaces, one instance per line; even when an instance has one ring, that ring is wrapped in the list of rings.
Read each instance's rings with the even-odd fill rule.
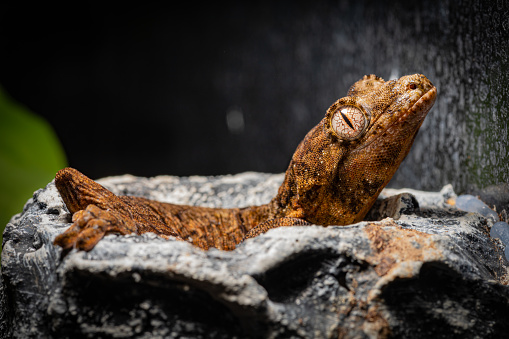
[[[73,224],[53,242],[64,250],[76,248],[90,251],[108,233],[130,234],[136,232],[136,224],[123,218],[118,212],[103,210],[96,205],[77,211],[72,217]]]

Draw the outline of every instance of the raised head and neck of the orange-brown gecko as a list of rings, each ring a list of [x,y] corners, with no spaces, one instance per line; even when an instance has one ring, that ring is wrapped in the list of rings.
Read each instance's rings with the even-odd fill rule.
[[[357,81],[297,147],[279,205],[320,225],[362,220],[408,154],[436,95],[421,74]]]

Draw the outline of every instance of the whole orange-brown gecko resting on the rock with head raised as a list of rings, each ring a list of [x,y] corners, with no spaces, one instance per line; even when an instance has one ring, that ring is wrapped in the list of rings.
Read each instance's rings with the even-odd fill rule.
[[[153,232],[233,250],[269,229],[361,221],[410,151],[437,89],[421,74],[364,76],[298,145],[277,195],[261,206],[209,208],[117,196],[73,168],[55,184],[73,214],[54,243],[91,250],[106,234]]]

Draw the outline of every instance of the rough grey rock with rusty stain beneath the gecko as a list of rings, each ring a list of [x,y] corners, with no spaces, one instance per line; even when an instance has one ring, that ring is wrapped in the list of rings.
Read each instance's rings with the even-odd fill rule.
[[[244,173],[101,183],[120,194],[231,207],[268,201],[281,181]],[[52,241],[70,215],[50,183],[4,233],[0,337],[506,334],[508,261],[489,237],[492,221],[448,205],[450,186],[409,192],[385,190],[372,221],[274,229],[232,252],[109,235],[88,253],[61,257]]]

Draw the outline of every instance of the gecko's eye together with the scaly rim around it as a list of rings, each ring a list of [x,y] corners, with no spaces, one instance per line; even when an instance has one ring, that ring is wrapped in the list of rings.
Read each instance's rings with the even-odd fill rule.
[[[370,116],[353,98],[336,101],[327,111],[327,127],[341,140],[355,140],[364,135]]]

